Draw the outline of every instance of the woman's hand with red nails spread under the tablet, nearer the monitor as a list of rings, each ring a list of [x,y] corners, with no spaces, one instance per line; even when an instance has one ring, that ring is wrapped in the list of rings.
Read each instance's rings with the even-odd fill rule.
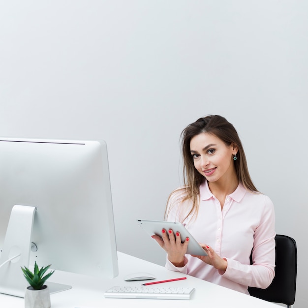
[[[176,267],[183,267],[184,256],[187,251],[189,239],[186,238],[184,243],[181,243],[181,235],[176,232],[174,235],[173,231],[169,229],[166,231],[162,229],[161,237],[158,235],[152,236],[154,240],[161,246],[168,255],[168,260]]]

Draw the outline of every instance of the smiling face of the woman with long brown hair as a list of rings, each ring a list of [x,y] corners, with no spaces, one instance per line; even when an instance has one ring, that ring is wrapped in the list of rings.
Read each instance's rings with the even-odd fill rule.
[[[227,146],[209,133],[201,133],[190,140],[194,166],[209,182],[228,180],[236,175],[233,157],[237,151],[237,146]]]

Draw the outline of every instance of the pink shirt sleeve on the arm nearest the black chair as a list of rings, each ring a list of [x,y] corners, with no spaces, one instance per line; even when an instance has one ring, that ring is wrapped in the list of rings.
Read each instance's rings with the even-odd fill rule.
[[[252,265],[225,258],[228,266],[222,276],[243,285],[267,288],[275,276],[275,235],[274,205],[266,197],[261,220],[254,233]]]

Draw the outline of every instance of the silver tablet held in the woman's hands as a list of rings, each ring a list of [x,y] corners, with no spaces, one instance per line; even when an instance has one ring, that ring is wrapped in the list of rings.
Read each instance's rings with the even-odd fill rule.
[[[137,219],[139,226],[144,229],[150,236],[158,235],[161,237],[161,230],[171,229],[173,233],[179,232],[181,234],[182,243],[185,242],[186,238],[189,238],[187,254],[195,255],[207,255],[205,250],[200,246],[200,244],[192,237],[185,226],[180,222],[172,221],[158,221],[158,220],[139,220]]]

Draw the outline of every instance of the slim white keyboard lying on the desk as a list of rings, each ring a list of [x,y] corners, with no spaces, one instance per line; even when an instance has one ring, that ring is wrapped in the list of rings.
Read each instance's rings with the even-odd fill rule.
[[[143,298],[164,300],[190,300],[194,288],[168,288],[153,286],[112,287],[104,293],[106,298]]]

